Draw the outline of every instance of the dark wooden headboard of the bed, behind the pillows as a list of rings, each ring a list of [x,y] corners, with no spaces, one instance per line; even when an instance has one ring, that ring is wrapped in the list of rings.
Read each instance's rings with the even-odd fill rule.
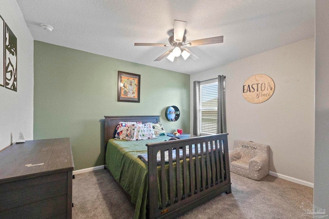
[[[136,116],[104,116],[105,117],[105,134],[104,143],[115,137],[115,129],[119,122],[142,122],[142,123],[159,123],[159,115],[136,115]]]

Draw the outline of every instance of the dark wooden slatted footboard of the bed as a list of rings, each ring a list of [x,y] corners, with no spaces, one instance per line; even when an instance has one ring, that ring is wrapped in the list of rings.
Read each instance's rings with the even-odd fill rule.
[[[231,193],[227,135],[147,144],[149,218],[172,218],[222,192]],[[173,153],[179,162],[173,160]]]

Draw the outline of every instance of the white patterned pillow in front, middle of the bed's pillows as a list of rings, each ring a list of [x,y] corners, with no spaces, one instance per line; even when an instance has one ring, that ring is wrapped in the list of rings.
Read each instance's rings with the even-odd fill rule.
[[[139,141],[156,138],[152,123],[132,124],[128,126],[127,141]]]

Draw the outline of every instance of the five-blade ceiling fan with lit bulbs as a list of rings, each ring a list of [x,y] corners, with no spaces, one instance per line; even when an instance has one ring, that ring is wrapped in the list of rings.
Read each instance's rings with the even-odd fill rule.
[[[175,57],[179,57],[180,55],[184,58],[184,60],[186,60],[188,57],[190,57],[192,60],[199,58],[186,47],[223,43],[224,36],[215,36],[186,42],[186,36],[184,35],[185,27],[186,22],[174,20],[174,35],[169,37],[169,44],[135,43],[135,46],[173,46],[173,49],[163,53],[154,61],[161,61],[162,58],[167,57],[171,62],[174,62]]]

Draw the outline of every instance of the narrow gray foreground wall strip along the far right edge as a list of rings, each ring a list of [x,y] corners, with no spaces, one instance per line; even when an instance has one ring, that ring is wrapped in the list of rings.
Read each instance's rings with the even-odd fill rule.
[[[316,1],[314,205],[329,211],[329,1]],[[326,213],[327,215],[328,213]]]

